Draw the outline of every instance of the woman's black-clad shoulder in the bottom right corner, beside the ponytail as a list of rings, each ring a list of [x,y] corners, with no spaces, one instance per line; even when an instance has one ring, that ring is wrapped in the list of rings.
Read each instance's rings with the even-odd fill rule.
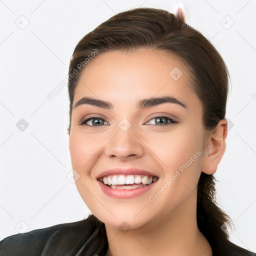
[[[256,253],[239,247],[229,240],[216,243],[212,250],[213,256],[256,256]]]

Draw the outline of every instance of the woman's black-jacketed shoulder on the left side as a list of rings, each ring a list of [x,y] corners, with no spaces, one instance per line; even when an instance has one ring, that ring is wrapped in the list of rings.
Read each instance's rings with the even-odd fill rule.
[[[0,241],[1,256],[73,255],[93,233],[91,217],[10,235]]]

